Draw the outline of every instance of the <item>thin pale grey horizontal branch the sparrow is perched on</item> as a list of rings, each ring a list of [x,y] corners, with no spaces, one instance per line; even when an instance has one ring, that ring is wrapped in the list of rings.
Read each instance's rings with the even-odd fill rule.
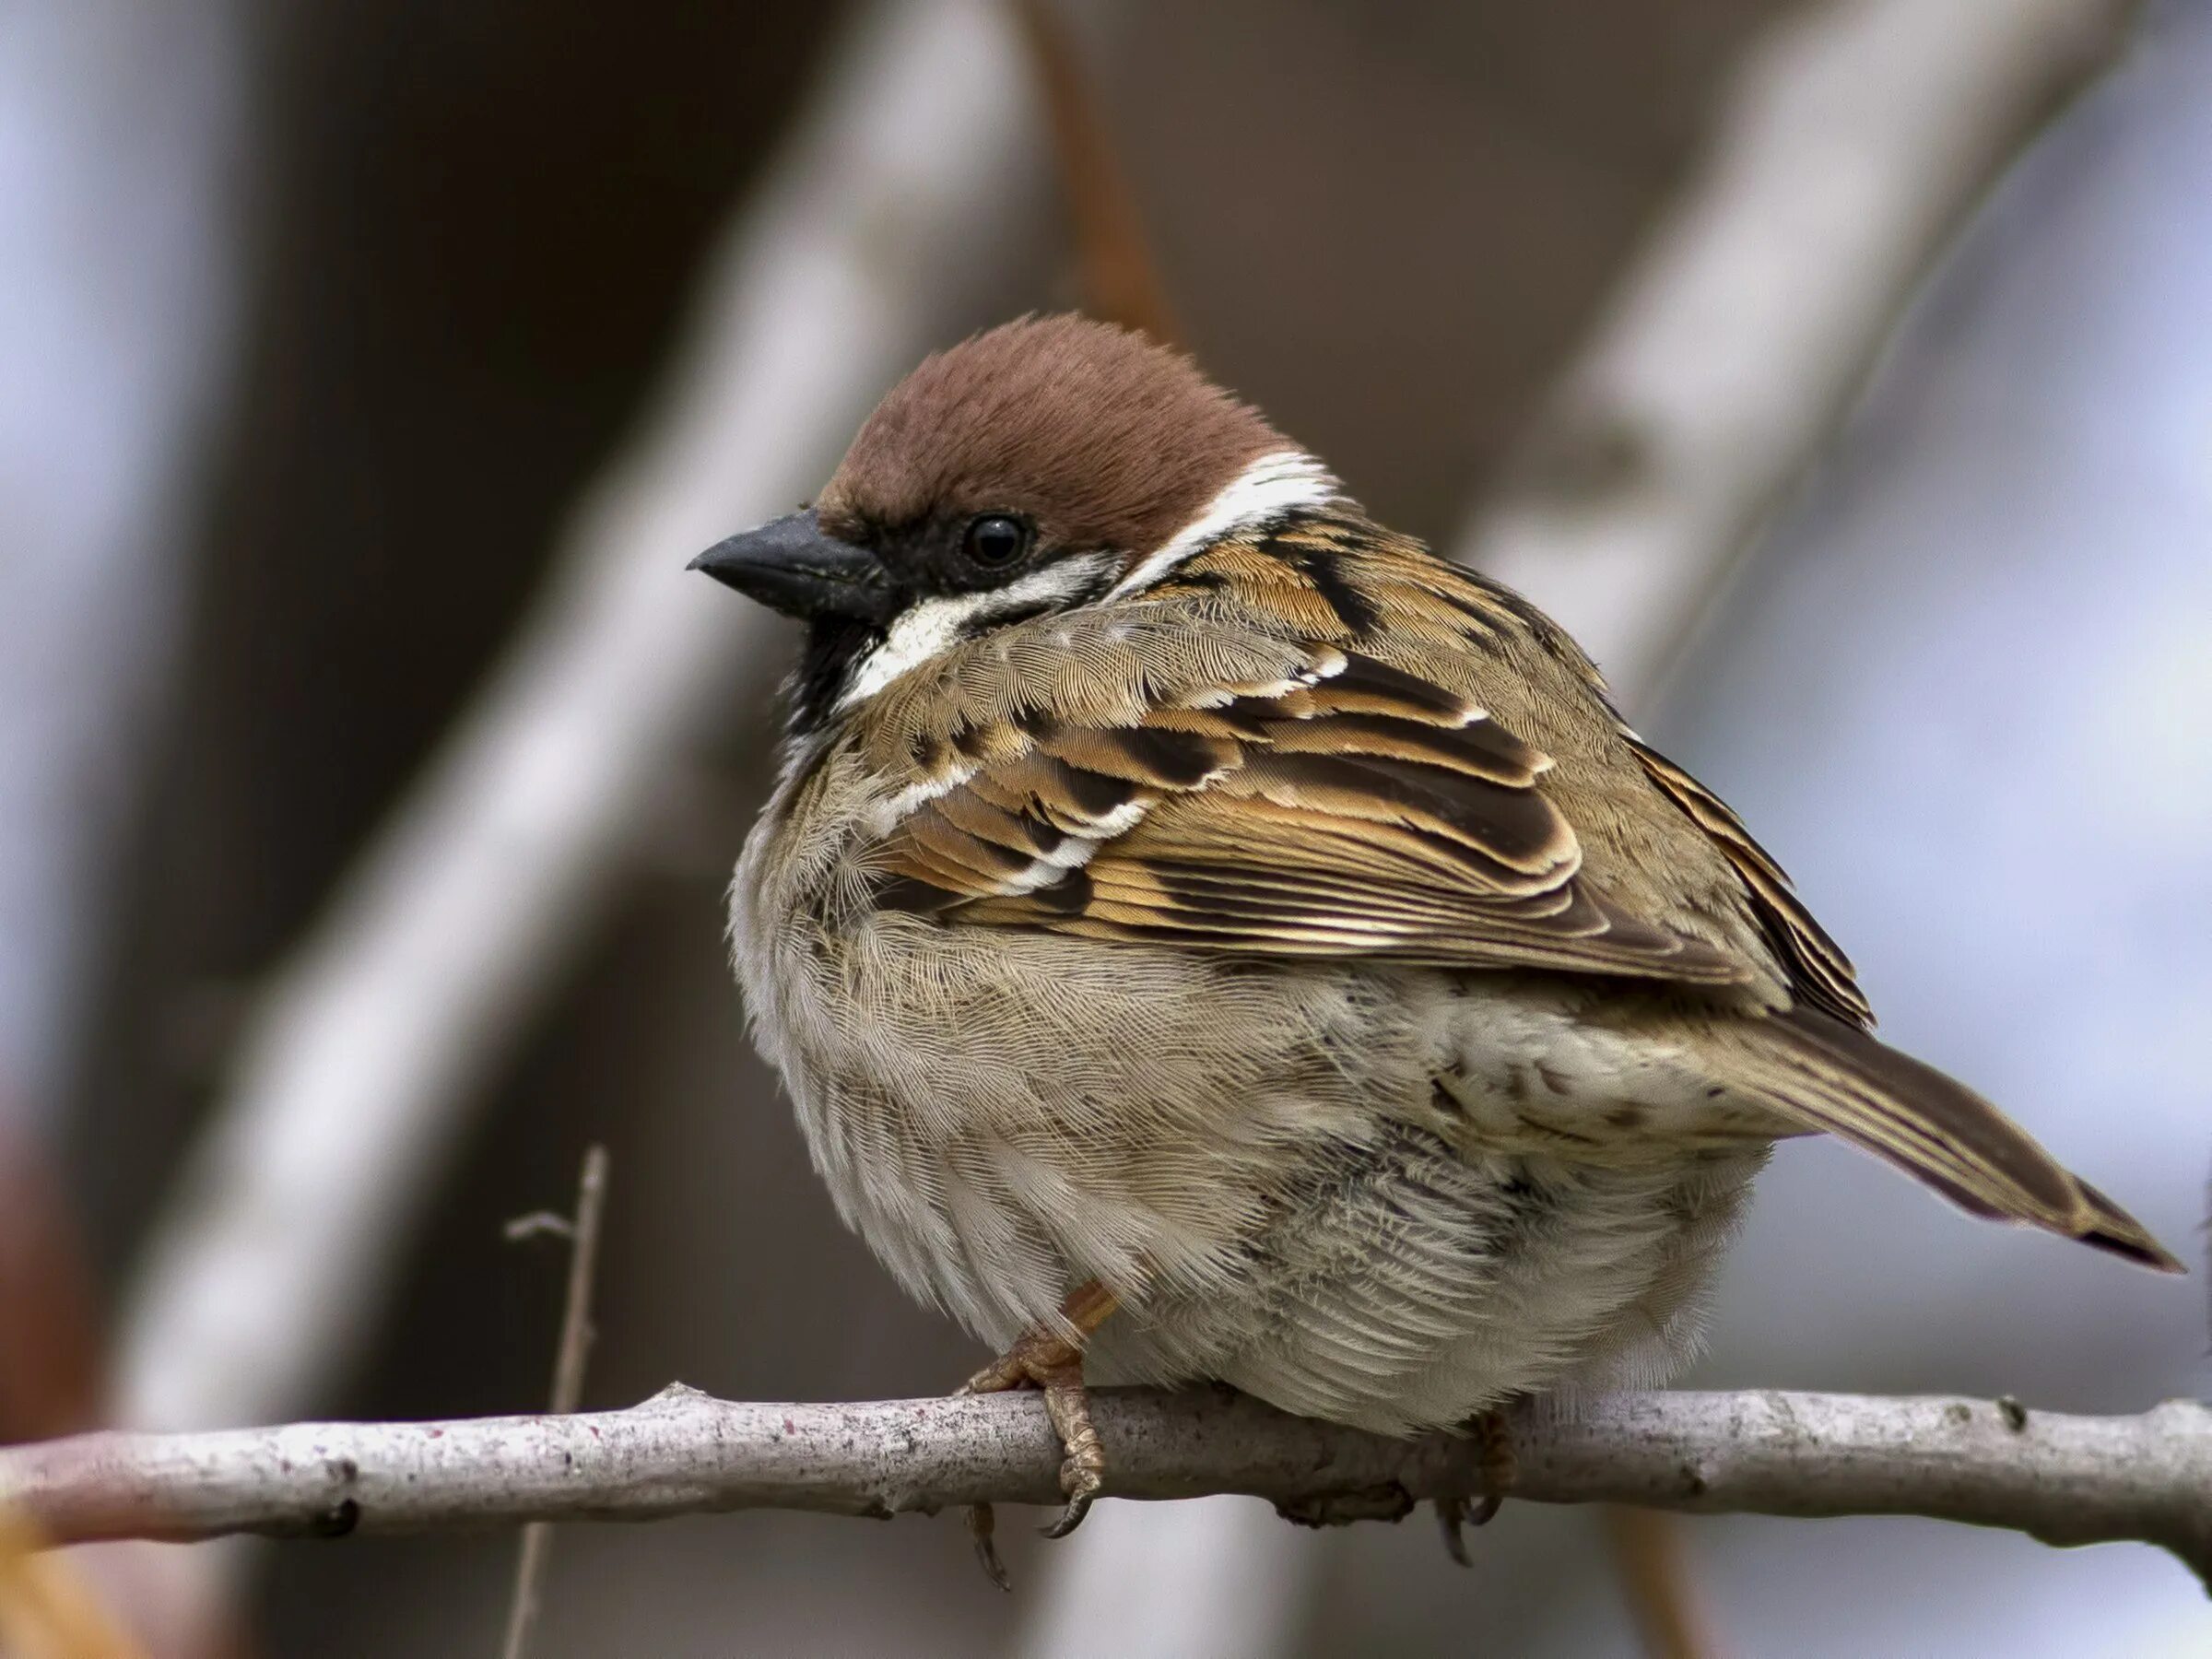
[[[1480,1489],[1473,1442],[1385,1440],[1225,1391],[1095,1396],[1117,1498],[1267,1498],[1396,1520]],[[2212,1586],[2212,1407],[2132,1418],[2015,1400],[1626,1394],[1520,1413],[1513,1495],[1692,1513],[1929,1515],[2046,1544],[2143,1542]],[[88,1433],[0,1449],[0,1509],[49,1542],[336,1537],[730,1509],[889,1517],[1060,1502],[1060,1442],[1020,1394],[741,1405],[675,1385],[626,1411]]]

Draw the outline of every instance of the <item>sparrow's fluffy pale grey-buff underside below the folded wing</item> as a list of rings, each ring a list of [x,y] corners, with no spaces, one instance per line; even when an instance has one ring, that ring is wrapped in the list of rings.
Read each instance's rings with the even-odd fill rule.
[[[827,953],[757,971],[754,1018],[841,1214],[978,1338],[1095,1279],[1124,1301],[1099,1380],[1376,1429],[1694,1349],[1765,1148],[1686,1144],[1694,1079],[1555,982],[876,933],[834,982]]]

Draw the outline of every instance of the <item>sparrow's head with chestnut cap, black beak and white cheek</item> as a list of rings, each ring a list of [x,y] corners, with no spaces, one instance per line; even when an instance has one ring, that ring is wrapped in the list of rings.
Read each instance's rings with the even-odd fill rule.
[[[1329,473],[1177,352],[1044,316],[927,358],[816,502],[692,568],[807,624],[801,728],[962,639],[1152,586]]]

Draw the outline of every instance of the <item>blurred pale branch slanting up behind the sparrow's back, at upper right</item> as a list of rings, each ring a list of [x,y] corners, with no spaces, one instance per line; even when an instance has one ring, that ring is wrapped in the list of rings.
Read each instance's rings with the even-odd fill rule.
[[[1648,697],[1951,234],[2137,0],[1832,0],[1719,131],[1455,557]]]

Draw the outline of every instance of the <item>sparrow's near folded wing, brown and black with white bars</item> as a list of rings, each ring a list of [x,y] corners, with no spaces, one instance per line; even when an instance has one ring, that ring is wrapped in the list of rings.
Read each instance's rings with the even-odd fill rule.
[[[1590,889],[1537,787],[1551,759],[1451,690],[1188,617],[1011,633],[885,710],[880,759],[916,776],[872,858],[887,907],[1270,956],[1745,978]]]

